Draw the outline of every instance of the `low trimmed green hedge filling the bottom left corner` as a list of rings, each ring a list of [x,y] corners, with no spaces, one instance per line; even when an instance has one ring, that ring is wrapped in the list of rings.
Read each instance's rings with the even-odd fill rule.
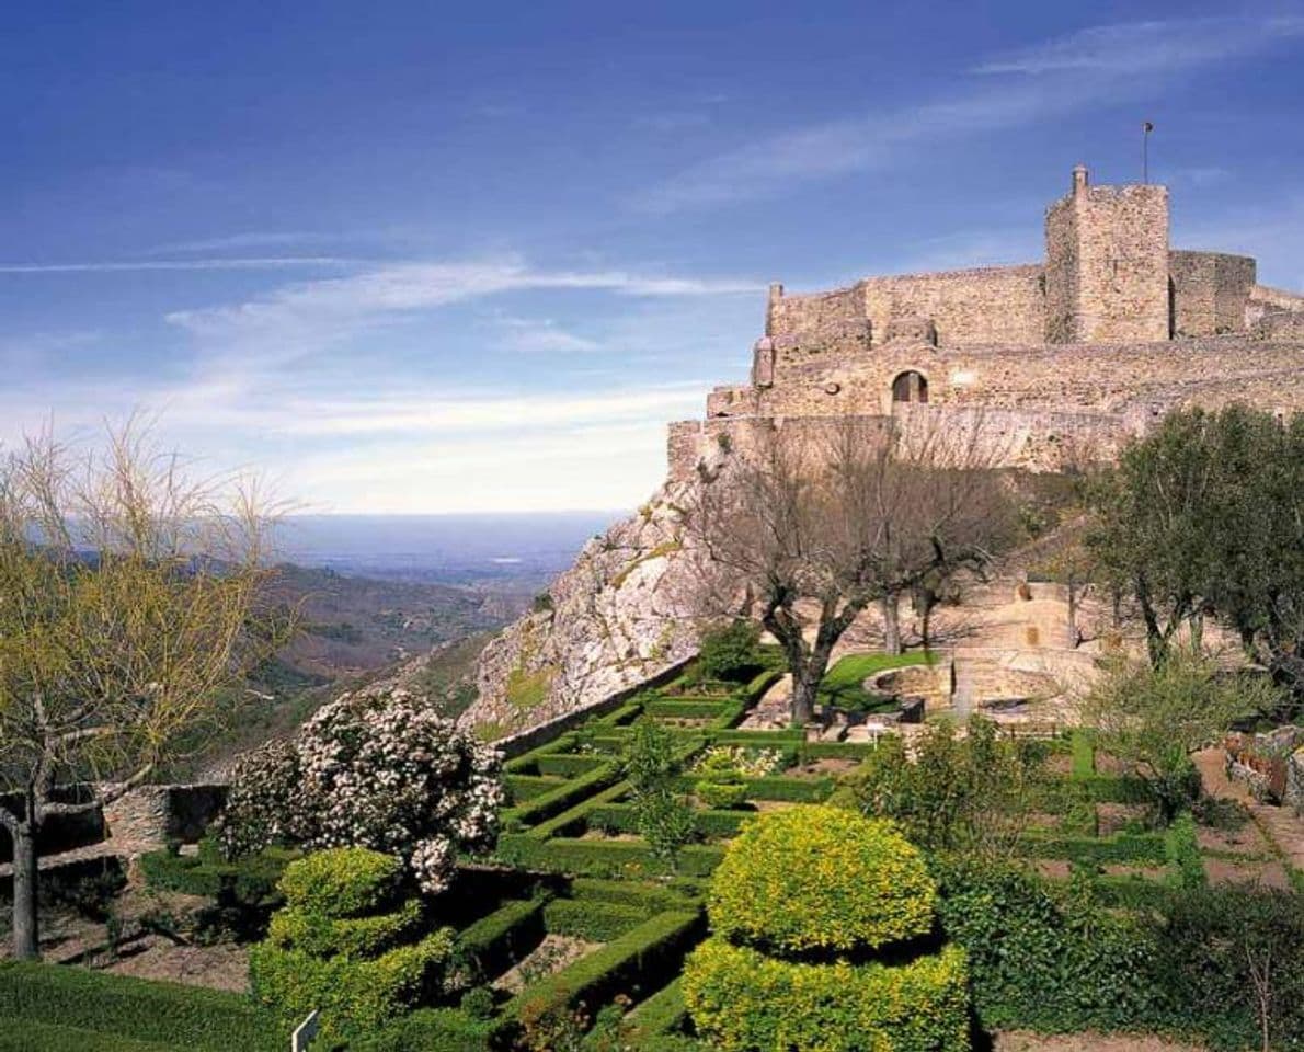
[[[57,1019],[61,1027],[80,1027],[123,1042],[198,1052],[280,1048],[274,1027],[253,1001],[239,993],[67,965],[0,963],[0,1019],[22,1021],[25,1031],[27,1023]],[[107,1052],[112,1045],[104,1048]]]

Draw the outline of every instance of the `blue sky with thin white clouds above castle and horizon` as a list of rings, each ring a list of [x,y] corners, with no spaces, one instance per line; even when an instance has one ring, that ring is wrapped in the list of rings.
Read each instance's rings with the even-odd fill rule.
[[[12,3],[0,441],[629,507],[764,285],[1033,261],[1082,160],[1304,288],[1299,4]]]

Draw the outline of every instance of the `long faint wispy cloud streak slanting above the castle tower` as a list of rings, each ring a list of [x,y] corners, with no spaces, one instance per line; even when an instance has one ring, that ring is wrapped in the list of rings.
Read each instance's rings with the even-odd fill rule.
[[[643,194],[653,212],[771,197],[898,163],[927,143],[1144,95],[1202,66],[1304,35],[1304,17],[1197,18],[1084,29],[979,63],[952,94],[790,129],[709,158]]]

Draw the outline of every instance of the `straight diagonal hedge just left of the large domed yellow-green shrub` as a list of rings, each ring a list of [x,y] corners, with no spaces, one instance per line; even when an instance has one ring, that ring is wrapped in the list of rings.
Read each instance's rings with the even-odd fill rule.
[[[617,995],[639,1000],[678,974],[683,954],[700,932],[700,911],[657,914],[570,967],[526,987],[503,1009],[515,1018],[532,1002],[605,1005]]]

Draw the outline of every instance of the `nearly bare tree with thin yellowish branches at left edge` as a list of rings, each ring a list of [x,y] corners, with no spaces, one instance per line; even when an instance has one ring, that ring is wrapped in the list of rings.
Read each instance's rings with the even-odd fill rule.
[[[89,456],[47,434],[0,463],[14,956],[39,956],[42,826],[146,781],[284,643],[292,618],[261,604],[267,512],[256,486],[192,481],[130,425]]]

